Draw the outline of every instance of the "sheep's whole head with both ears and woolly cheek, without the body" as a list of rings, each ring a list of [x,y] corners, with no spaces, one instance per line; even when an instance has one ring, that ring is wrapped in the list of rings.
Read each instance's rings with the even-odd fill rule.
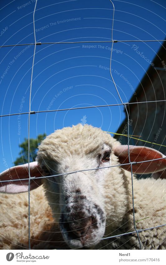
[[[161,166],[158,160],[133,164],[133,172],[149,173],[166,168],[166,159],[160,152],[130,146],[131,161],[144,161],[146,153],[149,160],[161,158]],[[44,185],[53,216],[59,221],[70,248],[93,248],[104,236],[108,224],[112,230],[120,227],[127,209],[125,171],[120,166],[110,166],[128,164],[128,146],[99,128],[78,124],[47,136],[39,146],[36,160],[30,164],[30,174],[36,177],[42,174],[45,178],[31,180],[30,188]],[[27,178],[27,168],[27,164],[11,168],[12,179]],[[123,168],[130,171],[129,165]],[[7,179],[7,172],[0,174],[1,180]],[[27,190],[27,180],[3,182],[0,187],[1,192],[8,193]]]

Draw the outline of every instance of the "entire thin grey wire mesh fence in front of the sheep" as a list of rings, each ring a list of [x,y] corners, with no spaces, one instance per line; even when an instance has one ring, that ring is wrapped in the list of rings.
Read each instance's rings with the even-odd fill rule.
[[[79,109],[88,109],[88,108],[98,108],[98,107],[109,107],[109,106],[124,106],[125,107],[125,111],[126,111],[126,115],[127,115],[127,120],[128,120],[128,132],[127,132],[127,137],[128,137],[128,157],[129,157],[129,163],[126,164],[117,164],[117,165],[113,165],[113,166],[107,166],[107,167],[100,167],[100,168],[92,168],[92,169],[82,169],[82,170],[77,170],[77,171],[72,171],[72,172],[68,172],[68,173],[63,173],[63,174],[56,174],[56,175],[51,175],[51,176],[47,176],[47,178],[50,177],[57,177],[57,176],[63,176],[63,175],[67,175],[67,174],[73,174],[73,173],[77,173],[77,172],[82,172],[82,171],[89,171],[89,170],[98,170],[98,169],[104,169],[104,168],[111,168],[111,167],[116,167],[116,166],[123,166],[123,165],[130,165],[131,167],[131,182],[132,182],[132,205],[133,205],[133,223],[134,223],[134,228],[135,230],[132,232],[126,232],[123,234],[118,234],[118,235],[114,235],[114,236],[109,236],[109,237],[105,237],[105,238],[101,238],[101,240],[104,239],[110,239],[110,238],[116,238],[116,237],[121,237],[124,235],[129,235],[129,234],[133,234],[136,233],[137,237],[138,237],[138,242],[140,245],[140,249],[141,249],[141,241],[140,241],[140,237],[139,237],[139,233],[142,231],[146,231],[146,230],[150,230],[150,229],[154,229],[154,228],[159,228],[162,226],[166,226],[166,224],[162,224],[162,225],[158,225],[155,227],[151,227],[151,228],[145,228],[145,229],[137,229],[136,228],[136,222],[135,222],[135,211],[134,211],[134,188],[133,188],[133,170],[132,170],[132,165],[133,164],[139,164],[139,163],[146,163],[146,162],[152,162],[154,160],[159,160],[159,159],[166,159],[166,157],[163,158],[157,158],[157,159],[150,159],[150,160],[146,160],[146,161],[139,161],[139,162],[135,162],[135,161],[130,161],[130,149],[129,149],[129,113],[127,110],[126,106],[129,106],[130,104],[142,104],[142,103],[154,103],[154,102],[165,102],[166,100],[159,100],[159,101],[142,101],[142,102],[123,102],[121,99],[121,96],[119,94],[119,91],[116,87],[116,83],[114,81],[114,78],[112,76],[111,73],[111,62],[112,62],[112,50],[111,49],[111,57],[110,57],[110,75],[111,75],[111,79],[113,81],[113,84],[115,86],[116,92],[119,96],[119,99],[121,101],[120,104],[110,104],[110,105],[99,105],[99,106],[88,106],[88,107],[78,107],[78,108],[67,108],[67,109],[58,109],[58,110],[40,110],[40,111],[31,111],[31,91],[32,91],[32,80],[33,80],[33,68],[34,68],[34,60],[35,60],[35,52],[36,52],[36,45],[42,45],[42,44],[74,44],[74,43],[90,43],[90,42],[108,42],[108,43],[112,43],[112,48],[114,43],[116,42],[165,42],[166,40],[113,40],[113,23],[114,23],[114,12],[115,12],[115,7],[114,4],[111,0],[109,0],[113,6],[113,17],[112,17],[112,28],[111,28],[111,40],[110,41],[78,41],[78,42],[36,42],[36,33],[35,33],[35,11],[36,11],[36,5],[37,5],[37,0],[35,3],[35,8],[34,8],[34,12],[33,12],[33,27],[34,27],[34,38],[35,38],[35,43],[29,43],[29,44],[13,44],[13,45],[2,45],[0,46],[2,47],[15,47],[15,46],[24,46],[24,45],[35,45],[34,47],[34,54],[33,54],[33,62],[32,62],[32,71],[31,71],[31,85],[30,85],[30,97],[29,97],[29,111],[28,112],[23,112],[23,113],[13,113],[13,114],[6,114],[6,115],[0,115],[0,117],[6,117],[6,116],[13,116],[13,115],[24,115],[24,114],[28,114],[28,175],[29,178],[25,178],[25,179],[13,179],[12,181],[21,181],[21,180],[28,180],[28,243],[29,243],[29,249],[31,249],[31,242],[30,242],[30,182],[31,180],[35,180],[35,179],[41,179],[41,178],[45,178],[45,176],[41,176],[41,177],[31,177],[30,174],[30,116],[31,114],[35,114],[35,113],[43,113],[43,112],[53,112],[53,111],[63,111],[63,110],[79,110]],[[8,182],[10,180],[0,180],[0,183],[2,182]]]

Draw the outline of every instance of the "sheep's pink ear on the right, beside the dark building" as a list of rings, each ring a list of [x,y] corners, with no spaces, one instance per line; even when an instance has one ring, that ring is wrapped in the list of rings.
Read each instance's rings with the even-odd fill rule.
[[[145,146],[129,145],[130,161],[140,162],[151,159],[158,159],[150,162],[133,164],[133,173],[148,174],[166,169],[166,156],[157,150]],[[118,156],[121,164],[129,163],[128,145],[118,145],[114,149],[114,154]],[[122,166],[124,169],[131,171],[130,165]]]

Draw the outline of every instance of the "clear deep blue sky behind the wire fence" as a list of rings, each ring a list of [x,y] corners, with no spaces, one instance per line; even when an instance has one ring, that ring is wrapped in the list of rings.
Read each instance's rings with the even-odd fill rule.
[[[164,0],[113,2],[113,39],[165,39]],[[0,5],[0,45],[33,43],[35,1],[6,0],[1,1]],[[111,40],[112,14],[109,0],[38,0],[35,13],[36,41]],[[149,62],[136,53],[133,45],[137,45],[137,50]],[[123,101],[130,100],[160,45],[159,42],[114,43],[112,75]],[[108,70],[110,47],[111,43],[36,46],[31,110],[121,103]],[[1,115],[29,110],[33,52],[34,45],[0,49]],[[21,103],[22,99],[25,102]],[[82,119],[103,130],[116,132],[124,118],[123,106],[35,114],[31,115],[30,137],[36,138],[44,132],[48,135],[64,126],[78,124]],[[27,125],[28,115],[21,115],[21,119],[18,116],[1,118],[0,171],[6,169],[3,159],[8,167],[12,166],[12,161],[20,151],[19,143],[28,136]]]

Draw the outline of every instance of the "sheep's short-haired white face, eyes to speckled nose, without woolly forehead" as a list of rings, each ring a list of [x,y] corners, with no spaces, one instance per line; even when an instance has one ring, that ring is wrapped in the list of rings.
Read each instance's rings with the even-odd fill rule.
[[[84,158],[71,155],[64,156],[61,163],[51,163],[54,166],[49,164],[50,160],[46,164],[53,175],[97,168],[109,165],[110,152],[110,147],[104,145],[97,157],[93,154]],[[55,218],[59,217],[60,230],[70,248],[91,248],[104,235],[106,214],[103,192],[107,171],[83,171],[44,180],[46,196]]]

